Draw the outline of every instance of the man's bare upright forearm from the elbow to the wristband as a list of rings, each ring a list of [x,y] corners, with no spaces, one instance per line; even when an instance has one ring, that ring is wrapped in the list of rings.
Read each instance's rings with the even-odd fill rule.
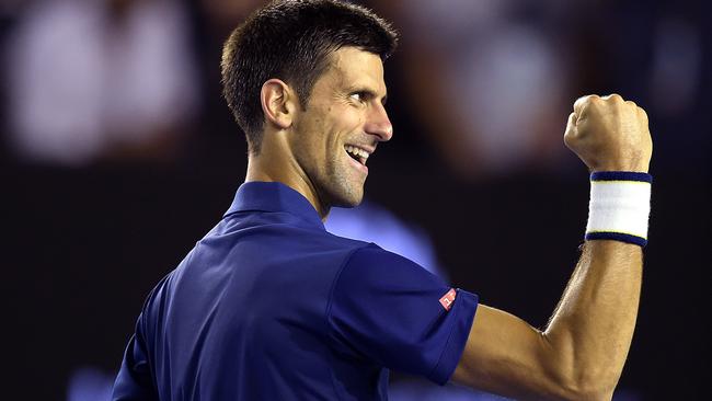
[[[587,241],[559,307],[543,332],[564,387],[609,399],[630,347],[641,291],[642,250]]]

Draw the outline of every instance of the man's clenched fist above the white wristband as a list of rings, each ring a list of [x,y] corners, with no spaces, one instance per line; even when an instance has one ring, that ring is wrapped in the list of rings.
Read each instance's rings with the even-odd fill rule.
[[[645,111],[618,94],[579,98],[564,142],[594,172],[647,172],[653,153]]]

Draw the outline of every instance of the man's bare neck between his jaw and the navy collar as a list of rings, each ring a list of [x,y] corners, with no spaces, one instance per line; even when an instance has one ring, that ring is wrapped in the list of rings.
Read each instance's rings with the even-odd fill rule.
[[[263,147],[260,154],[248,158],[245,182],[278,182],[300,193],[317,209],[322,221],[326,220],[331,207],[319,198],[317,190],[299,168],[294,158],[286,158]]]

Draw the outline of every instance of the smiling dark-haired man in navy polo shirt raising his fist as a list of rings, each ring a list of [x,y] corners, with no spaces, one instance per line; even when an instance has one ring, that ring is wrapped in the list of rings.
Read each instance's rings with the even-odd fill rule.
[[[332,0],[271,3],[230,36],[245,183],[149,295],[115,400],[384,400],[389,369],[516,398],[611,398],[641,285],[645,113],[618,95],[574,105],[564,139],[594,171],[587,241],[539,331],[324,230],[332,206],[361,200],[367,160],[393,135],[382,61],[394,46],[382,20]]]

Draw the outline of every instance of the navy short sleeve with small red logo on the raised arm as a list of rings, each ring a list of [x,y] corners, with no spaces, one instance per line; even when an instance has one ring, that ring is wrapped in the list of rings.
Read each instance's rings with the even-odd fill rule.
[[[344,264],[328,319],[345,352],[445,385],[476,307],[476,295],[453,290],[416,263],[371,244]]]

